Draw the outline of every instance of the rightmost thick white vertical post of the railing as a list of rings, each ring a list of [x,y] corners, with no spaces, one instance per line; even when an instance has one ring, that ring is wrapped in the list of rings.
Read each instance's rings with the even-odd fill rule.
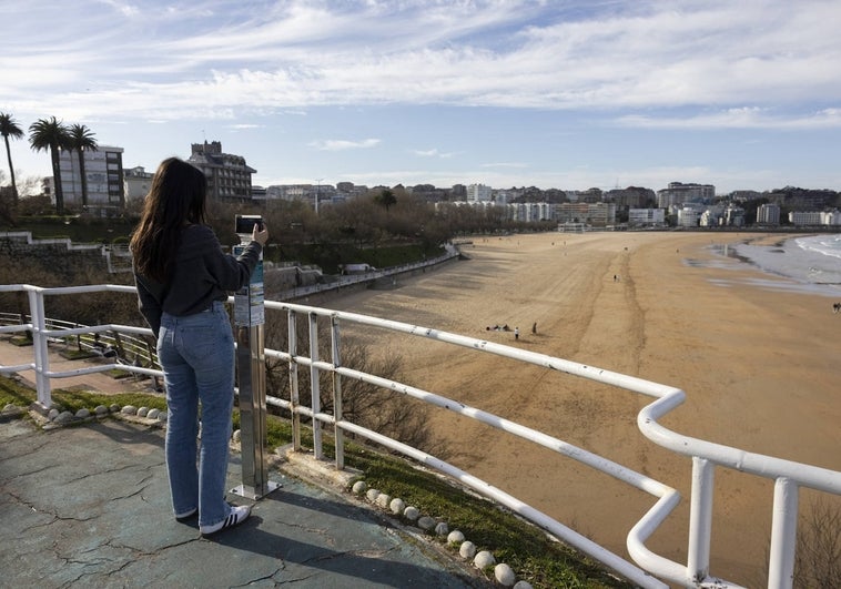
[[[800,489],[792,479],[780,477],[774,483],[768,589],[791,588],[794,583],[799,495]]]

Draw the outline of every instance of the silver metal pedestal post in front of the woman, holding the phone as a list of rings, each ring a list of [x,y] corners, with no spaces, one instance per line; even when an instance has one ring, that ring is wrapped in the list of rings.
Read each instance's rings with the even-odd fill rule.
[[[234,247],[242,253],[244,245]],[[236,373],[240,383],[242,485],[232,492],[259,499],[280,485],[266,471],[265,303],[262,256],[247,286],[234,295]]]

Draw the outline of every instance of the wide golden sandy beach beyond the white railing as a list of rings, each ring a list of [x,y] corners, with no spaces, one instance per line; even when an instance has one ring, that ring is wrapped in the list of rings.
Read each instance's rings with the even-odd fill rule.
[[[763,235],[776,243],[791,235]],[[477,237],[467,261],[320,306],[353,311],[676,386],[662,424],[685,435],[841,470],[835,299],[768,287],[772,277],[711,246],[737,233],[590,233]],[[761,284],[756,281],[762,281]],[[839,297],[841,299],[841,297]],[[533,325],[537,324],[537,333]],[[487,331],[507,324],[513,332]],[[534,427],[645,473],[682,496],[649,546],[686,560],[691,460],[648,441],[631,393],[406,336],[371,341],[403,358],[404,382]],[[610,550],[653,499],[578,463],[437,412],[449,459]],[[772,483],[716,470],[711,572],[763,585]],[[813,494],[801,494],[809,505]],[[824,496],[825,497],[825,496]],[[830,498],[840,505],[838,498]]]

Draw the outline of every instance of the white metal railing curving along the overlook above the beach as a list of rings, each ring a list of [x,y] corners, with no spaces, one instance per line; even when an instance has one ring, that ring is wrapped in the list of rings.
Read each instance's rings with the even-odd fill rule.
[[[48,328],[44,321],[44,296],[84,294],[103,291],[135,294],[135,290],[132,286],[92,285],[63,288],[41,288],[31,285],[0,285],[0,293],[14,291],[24,291],[28,293],[31,322],[20,325],[0,326],[0,333],[30,331],[33,339],[34,362],[32,364],[18,366],[0,366],[0,373],[13,373],[28,369],[34,370],[37,375],[38,402],[44,407],[51,405],[51,378],[103,372],[116,367],[116,365],[105,364],[73,370],[51,372],[49,368],[49,355],[47,349],[47,343],[50,337],[57,335],[72,335],[75,332],[91,333],[94,329],[111,329],[115,333],[151,335],[151,331],[146,328],[113,324],[85,326],[78,329],[55,331]],[[230,301],[232,302],[233,298]],[[808,487],[828,494],[841,495],[840,471],[743,451],[738,448],[683,436],[661,426],[658,423],[658,419],[682,404],[686,398],[685,393],[679,388],[605,370],[595,366],[582,365],[544,354],[513,348],[501,344],[440,332],[428,327],[291,303],[266,302],[265,305],[267,309],[283,312],[287,317],[288,349],[266,349],[265,355],[267,357],[275,357],[288,362],[291,395],[288,399],[267,396],[266,402],[270,405],[283,407],[291,412],[295,449],[301,448],[301,417],[312,419],[314,454],[316,458],[323,459],[322,427],[324,425],[333,427],[336,446],[335,460],[336,467],[340,469],[344,468],[344,433],[352,433],[369,439],[453,477],[462,485],[504,505],[641,587],[668,587],[663,580],[683,587],[739,587],[736,583],[713,577],[709,571],[713,510],[712,496],[715,489],[713,474],[716,467],[730,468],[774,480],[771,549],[768,569],[768,587],[773,589],[790,588],[793,583],[799,489],[801,487]],[[308,354],[302,353],[297,349],[296,319],[298,317],[306,317],[308,319]],[[323,360],[318,357],[320,319],[322,322],[330,322],[332,357],[328,360]],[[469,348],[477,353],[495,354],[524,364],[541,366],[560,374],[590,379],[653,398],[655,400],[638,414],[637,425],[640,431],[656,444],[677,454],[690,456],[692,458],[687,562],[680,563],[669,560],[646,547],[648,538],[678,505],[680,495],[677,490],[646,475],[595,455],[584,448],[574,446],[553,436],[548,436],[536,429],[525,427],[475,407],[466,406],[457,400],[436,395],[428,390],[345,367],[341,362],[340,345],[340,329],[343,324],[353,324],[372,329],[386,329],[412,337],[433,339],[454,346]],[[297,378],[298,366],[308,368],[311,373],[312,403],[310,407],[300,403]],[[125,365],[120,365],[119,367],[139,374],[161,376],[160,372],[150,368]],[[318,376],[321,373],[330,373],[332,376],[332,393],[334,396],[333,405],[335,408],[333,415],[323,413],[320,409],[321,390]],[[342,415],[341,395],[343,378],[352,378],[369,383],[377,387],[422,400],[430,406],[453,412],[466,418],[475,419],[506,434],[518,436],[525,440],[549,448],[560,455],[574,458],[584,465],[608,474],[627,485],[652,495],[656,497],[655,504],[630,529],[627,537],[628,552],[635,560],[636,565],[595,544],[577,531],[541,512],[537,508],[524,504],[516,497],[513,497],[504,490],[492,486],[454,465],[346,420]]]

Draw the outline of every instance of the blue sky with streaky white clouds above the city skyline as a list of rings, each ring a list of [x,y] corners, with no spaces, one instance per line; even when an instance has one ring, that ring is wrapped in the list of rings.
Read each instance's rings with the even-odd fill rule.
[[[841,190],[838,0],[0,0],[0,112],[256,185]],[[45,152],[11,141],[21,177]],[[6,158],[0,159],[9,183]]]

